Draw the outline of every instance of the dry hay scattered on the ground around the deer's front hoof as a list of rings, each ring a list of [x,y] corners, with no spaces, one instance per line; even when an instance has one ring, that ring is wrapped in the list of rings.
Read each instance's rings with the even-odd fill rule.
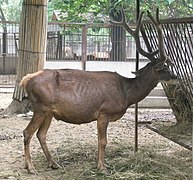
[[[167,154],[164,150],[158,151],[157,147],[146,146],[135,153],[131,146],[123,143],[112,144],[106,151],[108,174],[102,174],[97,170],[95,145],[61,146],[52,153],[55,153],[54,156],[63,167],[57,172],[53,171],[52,175],[56,180],[191,180],[192,178],[191,162],[187,161],[191,157],[189,151],[175,152],[174,155]],[[45,162],[43,158],[42,154],[36,157],[36,163],[39,162],[38,169],[43,167],[42,162]]]

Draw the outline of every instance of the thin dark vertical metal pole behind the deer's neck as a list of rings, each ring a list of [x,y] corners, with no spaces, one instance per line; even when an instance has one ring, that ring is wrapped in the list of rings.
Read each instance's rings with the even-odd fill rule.
[[[140,1],[136,1],[136,21],[139,18]],[[136,50],[136,70],[139,69],[139,53]],[[135,152],[138,151],[138,103],[135,104]]]

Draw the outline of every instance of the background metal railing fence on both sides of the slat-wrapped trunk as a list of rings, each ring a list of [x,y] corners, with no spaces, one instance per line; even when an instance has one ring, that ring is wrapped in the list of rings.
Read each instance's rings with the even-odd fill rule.
[[[122,27],[118,27],[122,28]],[[135,42],[129,35],[123,34],[117,47],[112,47],[114,37],[110,24],[76,24],[50,22],[47,34],[47,62],[86,61],[134,61]],[[16,78],[18,58],[19,24],[0,21],[0,86],[13,86]],[[117,52],[124,56],[115,56]],[[113,54],[114,53],[114,54]],[[141,57],[143,59],[143,57]],[[83,69],[85,68],[83,65]],[[54,65],[53,65],[54,66]],[[51,66],[49,66],[52,68]]]

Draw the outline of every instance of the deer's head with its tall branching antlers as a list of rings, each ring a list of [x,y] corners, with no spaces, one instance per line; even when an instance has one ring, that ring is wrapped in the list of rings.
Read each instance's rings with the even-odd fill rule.
[[[151,13],[147,11],[147,16],[151,20],[158,35],[158,49],[153,52],[145,51],[141,47],[140,28],[143,15],[144,11],[142,11],[139,15],[135,30],[129,27],[123,9],[121,9],[122,20],[120,22],[111,20],[112,24],[123,26],[125,28],[125,30],[135,39],[137,51],[150,60],[150,62],[145,67],[139,69],[136,72],[133,72],[133,74],[136,76],[143,76],[144,74],[149,73],[149,71],[152,71],[155,77],[158,79],[158,82],[175,84],[177,82],[177,76],[169,68],[170,66],[173,66],[173,63],[164,51],[164,41],[162,28],[159,21],[159,11],[157,9],[156,18],[154,18]]]

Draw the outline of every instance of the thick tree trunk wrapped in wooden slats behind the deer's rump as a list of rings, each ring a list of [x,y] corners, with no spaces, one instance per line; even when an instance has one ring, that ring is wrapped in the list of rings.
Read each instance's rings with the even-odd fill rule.
[[[19,86],[23,76],[44,68],[47,40],[47,0],[24,0],[19,29],[19,52],[17,62],[17,79],[13,94],[13,102],[7,109],[10,112],[23,111],[19,101],[27,97],[24,89]],[[17,105],[16,105],[17,104]],[[25,103],[28,104],[28,103]],[[22,107],[22,108],[21,108]],[[19,110],[19,109],[21,110]],[[27,108],[28,109],[28,108]]]

